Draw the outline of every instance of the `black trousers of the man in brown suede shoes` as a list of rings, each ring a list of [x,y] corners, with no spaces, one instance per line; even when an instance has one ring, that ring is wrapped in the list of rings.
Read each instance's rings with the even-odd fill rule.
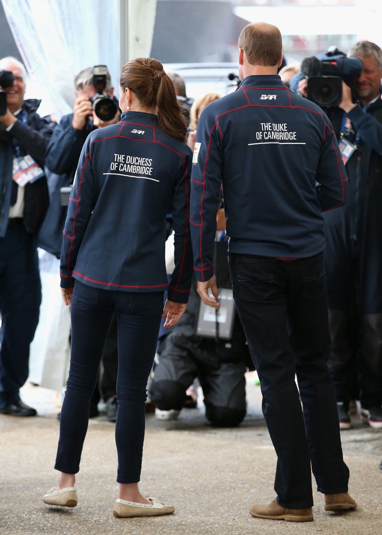
[[[311,469],[318,491],[347,492],[349,470],[326,365],[330,335],[323,255],[283,262],[230,254],[229,264],[277,454],[278,502],[295,509],[312,506]]]

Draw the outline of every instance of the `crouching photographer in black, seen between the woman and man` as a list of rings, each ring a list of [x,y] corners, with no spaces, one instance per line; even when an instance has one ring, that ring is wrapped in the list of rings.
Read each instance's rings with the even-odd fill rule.
[[[215,318],[215,311],[201,303],[194,278],[187,310],[159,342],[149,387],[158,419],[173,419],[187,407],[186,391],[196,378],[212,425],[237,426],[246,415],[245,373],[254,367],[232,297],[223,209],[217,229],[214,263],[222,317]]]

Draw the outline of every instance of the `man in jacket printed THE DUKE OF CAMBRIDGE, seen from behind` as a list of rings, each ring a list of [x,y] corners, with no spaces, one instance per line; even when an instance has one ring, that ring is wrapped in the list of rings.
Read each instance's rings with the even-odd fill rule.
[[[328,117],[285,87],[281,61],[277,27],[259,22],[242,30],[241,84],[199,118],[190,228],[198,293],[219,308],[213,246],[222,184],[233,297],[277,454],[276,499],[251,514],[306,522],[313,520],[311,469],[325,510],[356,507],[326,365],[321,215],[344,203],[347,176]]]

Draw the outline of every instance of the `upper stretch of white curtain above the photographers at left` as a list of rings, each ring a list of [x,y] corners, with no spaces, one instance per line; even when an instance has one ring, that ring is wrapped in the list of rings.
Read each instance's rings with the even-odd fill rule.
[[[59,120],[73,110],[74,76],[107,65],[118,88],[121,65],[149,56],[156,0],[2,0],[29,79],[26,97]],[[122,48],[123,46],[123,48]],[[138,53],[136,53],[138,52]]]

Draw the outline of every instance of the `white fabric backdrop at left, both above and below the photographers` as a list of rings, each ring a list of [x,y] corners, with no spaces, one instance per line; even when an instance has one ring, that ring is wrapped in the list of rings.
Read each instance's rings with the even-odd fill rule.
[[[157,0],[1,0],[27,68],[26,98],[42,98],[38,112],[60,120],[74,104],[73,79],[105,64],[118,88],[121,66],[150,56]],[[40,250],[42,304],[30,347],[29,380],[65,385],[70,315],[61,300],[59,261]]]

